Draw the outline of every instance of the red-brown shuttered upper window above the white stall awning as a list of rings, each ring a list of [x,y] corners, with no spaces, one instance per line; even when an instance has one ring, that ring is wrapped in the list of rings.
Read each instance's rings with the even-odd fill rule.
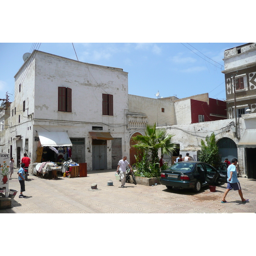
[[[72,89],[58,87],[58,111],[72,112]]]

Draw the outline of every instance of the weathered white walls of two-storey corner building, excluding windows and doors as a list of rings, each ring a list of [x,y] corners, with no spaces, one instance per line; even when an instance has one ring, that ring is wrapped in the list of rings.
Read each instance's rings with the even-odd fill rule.
[[[72,90],[72,112],[58,111],[58,87]],[[113,115],[102,114],[102,94],[113,95]],[[35,162],[38,141],[34,138],[41,131],[61,131],[67,132],[70,138],[84,138],[84,161],[91,170],[93,152],[89,132],[93,131],[92,126],[102,127],[101,131],[109,132],[113,138],[121,138],[121,154],[129,158],[128,73],[120,68],[34,51],[15,75],[15,101],[9,109],[10,128],[5,130],[5,138],[12,140],[15,160],[19,147],[20,157],[27,152]],[[20,139],[15,139],[17,135]],[[5,141],[2,150],[9,148],[10,144]],[[111,140],[107,140],[106,154],[106,169],[111,169]]]

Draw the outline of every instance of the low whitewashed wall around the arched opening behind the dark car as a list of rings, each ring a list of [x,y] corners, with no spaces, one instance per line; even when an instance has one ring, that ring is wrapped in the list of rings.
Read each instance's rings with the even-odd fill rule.
[[[235,134],[235,119],[224,119],[212,122],[201,122],[187,125],[167,126],[168,134],[175,135],[173,143],[180,145],[180,154],[185,156],[186,152],[197,160],[198,152],[201,149],[201,139],[205,141],[205,137],[210,136],[212,132],[215,134],[216,142],[222,138],[233,140],[236,145],[243,137],[245,130],[255,129],[256,114],[245,114],[239,119],[238,137]],[[253,139],[254,140],[254,139]],[[221,156],[221,161],[228,155]],[[237,159],[239,162],[239,175],[247,175],[246,151],[245,148],[237,147]],[[229,159],[231,162],[231,159]]]

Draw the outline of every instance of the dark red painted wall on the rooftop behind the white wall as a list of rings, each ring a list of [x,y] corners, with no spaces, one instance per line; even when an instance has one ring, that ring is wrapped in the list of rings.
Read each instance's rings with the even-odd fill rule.
[[[207,102],[190,99],[190,104],[192,123],[199,122],[198,115],[204,116],[204,122],[227,119],[221,116],[210,116],[210,114],[227,116],[227,103],[222,100],[209,98],[208,105]]]

